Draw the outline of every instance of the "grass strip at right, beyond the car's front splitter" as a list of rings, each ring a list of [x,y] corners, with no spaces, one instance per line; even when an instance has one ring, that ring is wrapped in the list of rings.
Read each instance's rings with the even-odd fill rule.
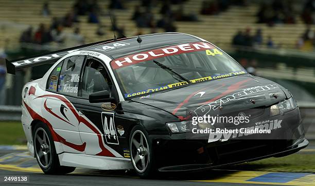
[[[315,173],[315,154],[296,153],[281,158],[267,158],[230,167],[233,170]]]

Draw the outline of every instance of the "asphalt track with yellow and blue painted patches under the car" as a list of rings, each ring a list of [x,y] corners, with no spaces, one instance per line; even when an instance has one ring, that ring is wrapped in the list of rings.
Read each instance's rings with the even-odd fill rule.
[[[310,144],[303,153],[314,153]],[[5,176],[28,176],[29,182],[4,182]],[[168,173],[158,179],[141,179],[132,171],[100,171],[77,168],[68,175],[45,175],[25,147],[0,148],[0,185],[315,185],[315,174],[209,170],[200,173]]]

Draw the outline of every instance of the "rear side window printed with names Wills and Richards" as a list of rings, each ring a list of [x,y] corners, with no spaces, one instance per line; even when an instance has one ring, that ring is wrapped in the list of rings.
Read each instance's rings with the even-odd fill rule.
[[[83,61],[84,56],[73,56],[64,59],[59,76],[58,92],[69,96],[78,95]]]

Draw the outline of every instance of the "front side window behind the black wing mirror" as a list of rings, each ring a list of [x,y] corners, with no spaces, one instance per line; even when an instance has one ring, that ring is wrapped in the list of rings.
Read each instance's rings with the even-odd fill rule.
[[[81,95],[84,98],[89,98],[89,95],[94,92],[107,90],[112,91],[111,79],[100,61],[88,58],[84,67]]]

